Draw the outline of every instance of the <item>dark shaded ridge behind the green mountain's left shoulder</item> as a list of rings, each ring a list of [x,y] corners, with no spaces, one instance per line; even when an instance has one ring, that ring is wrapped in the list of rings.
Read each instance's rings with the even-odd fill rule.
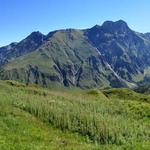
[[[35,51],[44,43],[45,36],[40,32],[33,32],[19,43],[12,43],[0,48],[0,64],[8,63],[15,58]]]

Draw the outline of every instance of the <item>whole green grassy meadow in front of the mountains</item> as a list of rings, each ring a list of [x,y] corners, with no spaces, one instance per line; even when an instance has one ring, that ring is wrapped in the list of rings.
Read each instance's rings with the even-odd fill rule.
[[[52,91],[0,81],[0,106],[2,149],[9,142],[14,149],[58,149],[61,143],[67,144],[60,149],[150,147],[149,97],[131,90]],[[26,131],[24,135],[22,128],[30,134]],[[20,141],[11,143],[14,136]],[[64,140],[57,141],[57,137]]]

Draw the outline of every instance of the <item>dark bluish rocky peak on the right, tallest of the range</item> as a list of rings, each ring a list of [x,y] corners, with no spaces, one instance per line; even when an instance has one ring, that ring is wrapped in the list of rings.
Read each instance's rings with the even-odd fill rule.
[[[129,82],[136,82],[137,76],[142,76],[150,65],[148,35],[132,31],[122,20],[107,21],[86,30],[85,34],[114,71]]]

